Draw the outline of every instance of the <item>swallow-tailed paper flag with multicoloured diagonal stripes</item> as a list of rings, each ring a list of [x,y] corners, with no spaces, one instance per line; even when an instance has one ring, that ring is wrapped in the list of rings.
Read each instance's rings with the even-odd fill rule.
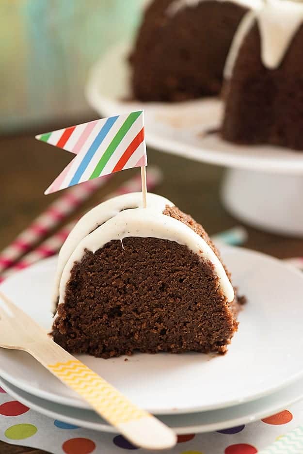
[[[143,111],[70,126],[40,134],[36,139],[76,155],[45,194],[119,170],[147,165]]]

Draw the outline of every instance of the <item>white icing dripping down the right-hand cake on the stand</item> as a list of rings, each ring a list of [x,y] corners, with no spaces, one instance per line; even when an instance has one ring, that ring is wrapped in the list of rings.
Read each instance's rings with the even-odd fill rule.
[[[236,32],[226,60],[224,76],[230,78],[239,49],[246,34],[257,23],[261,37],[261,60],[269,69],[277,68],[294,35],[303,23],[303,3],[288,0],[267,0],[263,7],[247,13]]]

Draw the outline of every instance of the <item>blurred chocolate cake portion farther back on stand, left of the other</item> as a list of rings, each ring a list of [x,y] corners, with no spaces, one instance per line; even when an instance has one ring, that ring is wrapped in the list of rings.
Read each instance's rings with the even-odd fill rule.
[[[153,0],[130,62],[133,96],[183,101],[218,95],[239,22],[261,0]]]

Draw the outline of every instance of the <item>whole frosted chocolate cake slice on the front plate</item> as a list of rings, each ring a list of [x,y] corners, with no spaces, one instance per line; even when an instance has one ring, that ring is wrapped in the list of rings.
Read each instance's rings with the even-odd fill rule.
[[[240,301],[219,252],[191,216],[148,194],[115,197],[83,216],[64,243],[52,336],[96,357],[225,353]]]

